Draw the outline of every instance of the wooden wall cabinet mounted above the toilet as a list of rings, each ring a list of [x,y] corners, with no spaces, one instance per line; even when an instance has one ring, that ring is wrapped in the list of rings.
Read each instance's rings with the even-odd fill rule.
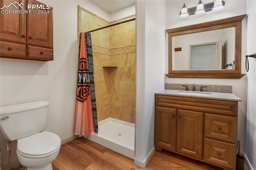
[[[27,4],[46,7],[36,0],[0,0],[1,7],[11,3],[16,6],[20,4],[20,11],[27,10]],[[17,10],[14,5],[10,5],[8,10]],[[29,10],[25,14],[0,14],[0,57],[53,60],[52,8]]]

